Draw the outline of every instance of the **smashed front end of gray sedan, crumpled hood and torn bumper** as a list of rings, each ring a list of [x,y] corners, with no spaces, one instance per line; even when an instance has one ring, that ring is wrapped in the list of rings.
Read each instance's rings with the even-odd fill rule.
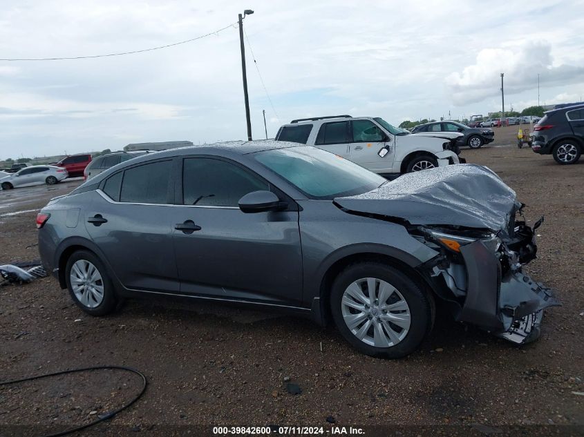
[[[523,344],[540,336],[543,310],[560,305],[523,271],[536,258],[543,217],[529,227],[525,205],[488,168],[436,168],[335,202],[350,213],[401,222],[433,249],[437,255],[417,269],[455,320]]]

